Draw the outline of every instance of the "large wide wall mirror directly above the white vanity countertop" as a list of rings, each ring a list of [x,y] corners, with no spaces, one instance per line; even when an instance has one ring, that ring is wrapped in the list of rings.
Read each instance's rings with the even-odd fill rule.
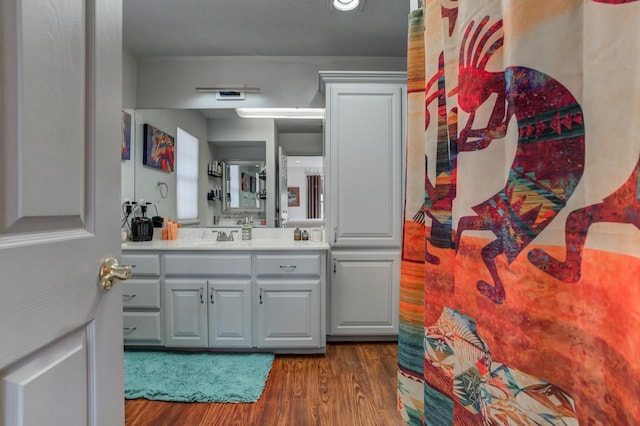
[[[144,200],[152,203],[152,211],[157,209],[160,216],[180,220],[176,172],[143,164],[143,126],[150,124],[176,137],[176,150],[180,149],[178,128],[198,140],[198,219],[183,221],[183,226],[231,226],[247,216],[254,219],[256,226],[267,227],[282,226],[287,221],[293,226],[291,222],[319,220],[307,213],[310,197],[306,175],[323,173],[322,120],[240,118],[234,110],[136,109],[128,112],[131,114],[131,154],[129,159],[122,160],[123,202]],[[286,159],[291,156],[319,160],[313,165],[292,160],[291,170],[287,170]],[[219,176],[208,173],[212,162],[220,164]],[[229,167],[225,174],[227,165],[234,168]],[[260,172],[264,172],[264,179]],[[290,175],[289,182],[287,175]],[[289,187],[299,187],[299,206],[288,205]]]

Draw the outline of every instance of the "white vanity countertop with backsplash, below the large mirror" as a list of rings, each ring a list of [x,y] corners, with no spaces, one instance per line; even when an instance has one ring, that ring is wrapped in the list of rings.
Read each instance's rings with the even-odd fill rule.
[[[216,241],[215,231],[227,234],[236,229],[234,241]],[[292,228],[253,228],[252,239],[242,240],[240,228],[180,228],[176,240],[158,238],[154,229],[152,241],[127,241],[122,250],[328,250],[326,241],[295,241]],[[311,234],[311,229],[307,229]]]

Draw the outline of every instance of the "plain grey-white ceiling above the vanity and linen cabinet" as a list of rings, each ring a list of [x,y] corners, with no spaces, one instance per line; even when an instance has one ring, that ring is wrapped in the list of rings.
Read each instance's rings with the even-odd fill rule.
[[[134,56],[405,57],[409,1],[361,0],[338,12],[331,0],[124,0],[123,45]],[[322,132],[314,120],[276,125]]]

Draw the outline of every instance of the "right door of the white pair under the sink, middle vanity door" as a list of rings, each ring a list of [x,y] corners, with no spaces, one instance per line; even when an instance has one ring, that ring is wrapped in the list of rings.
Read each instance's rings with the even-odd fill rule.
[[[207,281],[209,346],[251,347],[251,281]]]

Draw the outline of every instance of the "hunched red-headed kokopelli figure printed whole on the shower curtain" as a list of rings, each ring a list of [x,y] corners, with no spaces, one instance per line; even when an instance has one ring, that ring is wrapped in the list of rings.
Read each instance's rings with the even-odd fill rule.
[[[518,141],[506,185],[473,206],[475,216],[460,218],[455,248],[458,252],[465,231],[495,234],[481,251],[494,283],[480,280],[476,286],[494,303],[503,303],[506,293],[495,259],[504,254],[512,263],[565,207],[582,177],[585,138],[582,109],[559,81],[526,67],[486,70],[504,40],[502,21],[485,31],[488,22],[485,17],[472,34],[471,21],[460,46],[458,106],[469,118],[458,135],[458,152],[480,150],[504,138],[514,117]],[[485,51],[491,39],[495,41]],[[495,104],[488,122],[478,125],[476,112],[492,95]]]

